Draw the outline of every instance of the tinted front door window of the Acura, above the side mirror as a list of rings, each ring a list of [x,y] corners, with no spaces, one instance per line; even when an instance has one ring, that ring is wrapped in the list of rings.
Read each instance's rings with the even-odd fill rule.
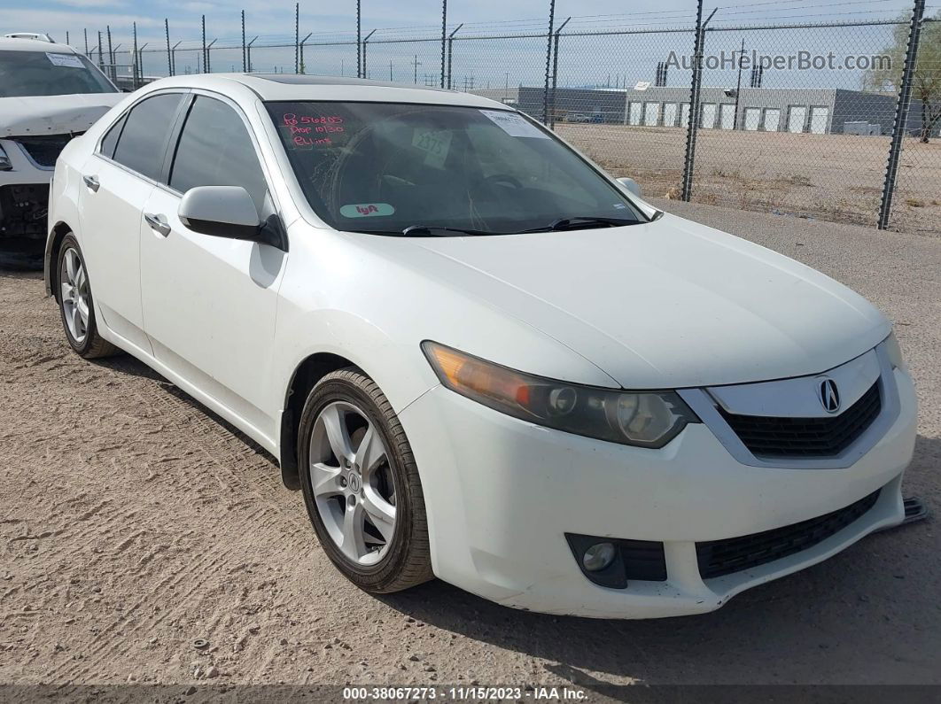
[[[169,185],[180,193],[196,186],[242,186],[263,211],[267,185],[242,118],[224,102],[199,96],[183,124]]]

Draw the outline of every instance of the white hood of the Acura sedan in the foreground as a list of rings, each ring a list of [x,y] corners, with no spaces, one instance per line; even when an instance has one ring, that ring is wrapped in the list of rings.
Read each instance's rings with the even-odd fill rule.
[[[409,242],[388,251],[533,325],[624,388],[815,374],[891,330],[833,279],[672,215],[630,227]]]

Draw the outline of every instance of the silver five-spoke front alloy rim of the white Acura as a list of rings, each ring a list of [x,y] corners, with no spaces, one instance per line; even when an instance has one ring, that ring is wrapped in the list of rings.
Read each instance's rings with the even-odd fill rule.
[[[311,431],[311,489],[330,540],[359,566],[375,565],[395,534],[395,477],[382,437],[361,409],[328,404]]]

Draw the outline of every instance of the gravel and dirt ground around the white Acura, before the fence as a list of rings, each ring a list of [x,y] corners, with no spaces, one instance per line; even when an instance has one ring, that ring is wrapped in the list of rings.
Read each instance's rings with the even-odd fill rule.
[[[896,321],[922,409],[906,493],[936,511],[941,240],[662,206],[805,261]],[[0,682],[941,683],[932,521],[694,618],[553,618],[440,582],[368,596],[334,571],[271,457],[136,360],[70,352],[37,274],[0,272],[0,467]]]

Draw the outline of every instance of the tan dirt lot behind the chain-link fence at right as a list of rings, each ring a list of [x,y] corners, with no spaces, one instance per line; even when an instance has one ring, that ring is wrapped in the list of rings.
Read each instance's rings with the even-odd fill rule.
[[[558,123],[556,131],[650,196],[682,181],[686,131],[670,127]],[[885,181],[888,136],[700,130],[693,200],[874,226]],[[941,139],[905,139],[891,227],[941,232]],[[678,190],[677,190],[678,193]]]

